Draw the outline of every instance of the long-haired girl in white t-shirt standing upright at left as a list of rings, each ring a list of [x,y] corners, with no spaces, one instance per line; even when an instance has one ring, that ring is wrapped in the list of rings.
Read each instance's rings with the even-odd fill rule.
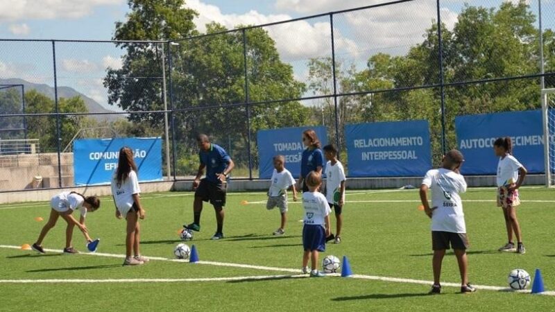
[[[141,205],[139,195],[139,180],[137,179],[137,165],[133,159],[133,150],[123,147],[119,150],[117,169],[112,177],[112,196],[116,205],[116,218],[126,218],[126,261],[125,266],[137,266],[148,262],[141,256],[139,218],[144,219],[145,211]],[[131,254],[134,254],[134,257]]]

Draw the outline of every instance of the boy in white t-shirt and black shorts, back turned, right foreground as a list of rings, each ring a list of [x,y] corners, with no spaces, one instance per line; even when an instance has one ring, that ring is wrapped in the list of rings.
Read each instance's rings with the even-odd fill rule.
[[[441,168],[428,171],[420,186],[420,200],[424,211],[432,218],[432,249],[434,258],[434,285],[430,294],[441,293],[441,262],[445,251],[452,246],[461,272],[461,293],[473,293],[476,288],[468,284],[468,259],[466,249],[466,224],[463,203],[459,193],[466,192],[466,181],[459,169],[463,164],[459,150],[450,150],[443,157]],[[427,191],[432,189],[432,208],[429,207]]]

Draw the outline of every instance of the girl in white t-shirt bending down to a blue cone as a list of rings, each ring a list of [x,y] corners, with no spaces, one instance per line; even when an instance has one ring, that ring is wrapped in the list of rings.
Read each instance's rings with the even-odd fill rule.
[[[46,237],[46,234],[48,234],[50,229],[52,229],[56,225],[58,217],[60,216],[67,223],[67,227],[65,230],[65,254],[78,253],[78,251],[71,246],[71,239],[74,234],[74,227],[78,227],[81,232],[83,232],[87,243],[90,243],[92,241],[87,232],[87,227],[85,226],[85,216],[87,215],[87,211],[92,212],[99,209],[100,199],[98,197],[85,197],[77,192],[66,191],[53,196],[53,198],[50,200],[50,207],[51,209],[49,220],[44,225],[44,227],[42,227],[37,241],[31,246],[33,250],[42,254],[46,253],[44,252],[44,248],[42,248],[42,241],[44,240],[44,237]],[[71,214],[76,210],[79,210],[81,214],[79,221],[77,221],[74,216],[71,216]]]

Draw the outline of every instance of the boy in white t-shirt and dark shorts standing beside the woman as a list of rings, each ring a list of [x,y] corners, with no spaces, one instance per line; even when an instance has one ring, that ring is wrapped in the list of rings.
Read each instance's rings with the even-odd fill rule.
[[[337,149],[332,144],[323,148],[325,159],[325,189],[327,203],[333,207],[336,218],[334,243],[341,243],[341,227],[343,226],[343,203],[345,202],[345,169],[337,159]]]

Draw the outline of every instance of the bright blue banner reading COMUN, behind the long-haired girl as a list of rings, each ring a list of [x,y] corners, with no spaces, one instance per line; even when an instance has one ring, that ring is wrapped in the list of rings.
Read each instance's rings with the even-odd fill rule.
[[[74,141],[75,184],[109,184],[123,146],[133,150],[139,181],[162,180],[160,137],[80,139]]]

